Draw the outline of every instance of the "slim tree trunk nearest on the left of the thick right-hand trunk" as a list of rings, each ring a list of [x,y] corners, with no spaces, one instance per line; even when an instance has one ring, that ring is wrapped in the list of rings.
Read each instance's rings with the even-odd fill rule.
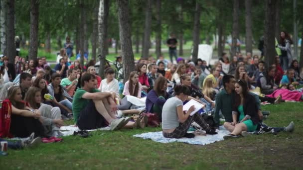
[[[252,0],[245,0],[245,47],[246,53],[253,52],[253,31],[252,31]]]

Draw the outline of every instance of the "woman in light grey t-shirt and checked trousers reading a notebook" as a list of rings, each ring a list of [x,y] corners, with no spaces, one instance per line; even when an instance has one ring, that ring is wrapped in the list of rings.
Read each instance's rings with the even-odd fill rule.
[[[176,85],[174,92],[175,96],[167,99],[162,109],[162,132],[165,138],[195,137],[194,134],[187,133],[193,121],[200,125],[206,134],[217,134],[215,129],[211,129],[200,114],[190,115],[195,110],[193,105],[187,112],[183,112],[183,102],[190,95],[190,90],[186,85]]]

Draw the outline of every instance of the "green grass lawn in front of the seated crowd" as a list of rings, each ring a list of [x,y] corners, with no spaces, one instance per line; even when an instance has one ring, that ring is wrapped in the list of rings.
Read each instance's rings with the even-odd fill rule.
[[[7,169],[302,169],[303,103],[266,105],[265,121],[281,127],[294,121],[293,133],[266,134],[221,141],[206,146],[161,144],[133,135],[160,131],[145,128],[93,132],[90,138],[63,137],[61,143],[9,150],[0,157]],[[72,124],[72,121],[66,122]]]

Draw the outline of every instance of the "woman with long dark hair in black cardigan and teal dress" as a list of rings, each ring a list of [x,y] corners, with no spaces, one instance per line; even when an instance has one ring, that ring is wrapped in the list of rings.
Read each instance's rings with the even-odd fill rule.
[[[235,102],[233,105],[233,122],[225,122],[224,127],[230,131],[224,139],[238,138],[243,131],[254,132],[259,123],[258,109],[253,95],[249,94],[246,81],[239,80],[235,84]]]

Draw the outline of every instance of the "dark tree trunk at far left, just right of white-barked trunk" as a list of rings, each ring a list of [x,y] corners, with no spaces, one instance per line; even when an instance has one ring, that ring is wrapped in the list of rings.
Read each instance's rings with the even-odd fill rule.
[[[14,58],[16,56],[15,47],[15,1],[7,1],[7,32],[6,32],[6,56],[9,59],[9,63],[14,63]]]

